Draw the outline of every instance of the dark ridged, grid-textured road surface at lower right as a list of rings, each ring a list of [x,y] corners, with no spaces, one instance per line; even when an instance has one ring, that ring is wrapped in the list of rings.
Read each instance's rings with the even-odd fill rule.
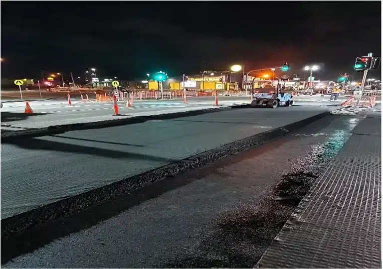
[[[380,118],[366,118],[257,264],[381,268]]]

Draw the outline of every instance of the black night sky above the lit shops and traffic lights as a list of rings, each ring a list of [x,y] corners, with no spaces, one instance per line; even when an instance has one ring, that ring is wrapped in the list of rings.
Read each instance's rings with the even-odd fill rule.
[[[134,79],[289,62],[302,78],[318,64],[316,78],[360,80],[355,58],[368,52],[381,56],[380,1],[1,1],[1,77],[95,67]]]

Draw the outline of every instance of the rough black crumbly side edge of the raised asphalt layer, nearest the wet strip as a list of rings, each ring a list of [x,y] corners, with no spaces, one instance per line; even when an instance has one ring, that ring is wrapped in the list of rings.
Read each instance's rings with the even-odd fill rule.
[[[112,184],[19,215],[2,219],[1,239],[9,240],[9,238],[23,234],[28,229],[41,227],[48,222],[68,217],[74,212],[101,204],[123,194],[129,194],[133,190],[144,187],[155,181],[173,177],[179,173],[207,165],[217,159],[226,157],[227,155],[234,155],[239,151],[282,137],[328,115],[330,115],[329,112],[321,113],[296,123],[237,140],[218,148],[192,155],[175,163],[128,177]]]

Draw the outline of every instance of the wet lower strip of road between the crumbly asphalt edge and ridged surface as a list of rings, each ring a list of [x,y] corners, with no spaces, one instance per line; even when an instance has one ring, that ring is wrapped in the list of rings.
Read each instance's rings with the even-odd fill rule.
[[[328,116],[2,241],[2,267],[253,267],[361,119]]]

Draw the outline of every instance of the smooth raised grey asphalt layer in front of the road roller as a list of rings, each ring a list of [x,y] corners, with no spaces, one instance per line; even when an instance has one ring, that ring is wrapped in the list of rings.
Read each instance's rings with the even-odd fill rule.
[[[1,219],[336,106],[236,109],[1,144]]]

